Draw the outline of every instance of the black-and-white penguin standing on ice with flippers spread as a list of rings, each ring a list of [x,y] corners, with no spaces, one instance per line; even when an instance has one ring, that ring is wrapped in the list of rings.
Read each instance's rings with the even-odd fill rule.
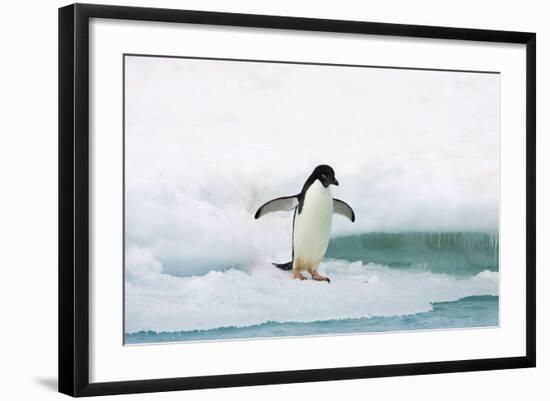
[[[283,196],[266,202],[254,215],[255,219],[278,211],[294,210],[292,220],[292,260],[273,263],[282,270],[291,270],[293,278],[305,280],[302,272],[311,274],[313,280],[327,281],[328,277],[317,272],[330,239],[333,213],[355,221],[353,209],[344,201],[332,197],[331,185],[339,185],[332,167],[326,164],[315,167],[302,191],[297,195]]]

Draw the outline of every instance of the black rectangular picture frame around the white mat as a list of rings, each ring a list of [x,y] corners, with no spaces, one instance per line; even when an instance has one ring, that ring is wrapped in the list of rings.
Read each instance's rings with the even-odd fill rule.
[[[520,357],[90,383],[90,18],[276,28],[526,46],[526,353]],[[536,363],[536,35],[527,32],[339,21],[221,12],[74,4],[59,9],[59,391],[71,396],[190,390],[534,367]]]

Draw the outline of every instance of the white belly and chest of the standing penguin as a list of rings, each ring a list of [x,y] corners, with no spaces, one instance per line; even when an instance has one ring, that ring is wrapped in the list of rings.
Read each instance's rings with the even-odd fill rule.
[[[306,191],[301,213],[294,219],[292,268],[315,271],[328,247],[332,226],[332,193],[319,181]]]

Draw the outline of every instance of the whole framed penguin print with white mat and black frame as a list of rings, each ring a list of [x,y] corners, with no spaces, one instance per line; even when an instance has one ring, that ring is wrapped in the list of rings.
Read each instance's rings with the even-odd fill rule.
[[[535,366],[535,34],[59,10],[59,390]]]

